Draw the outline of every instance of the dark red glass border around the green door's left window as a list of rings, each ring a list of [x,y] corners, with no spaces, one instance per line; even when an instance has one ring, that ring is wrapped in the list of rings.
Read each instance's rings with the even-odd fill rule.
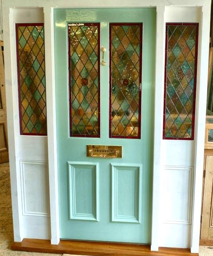
[[[72,90],[71,90],[71,58],[70,58],[70,24],[84,24],[85,26],[97,26],[98,27],[98,135],[81,135],[81,134],[72,134]],[[101,134],[101,107],[100,107],[100,23],[88,23],[88,22],[69,22],[68,23],[68,70],[69,70],[69,116],[70,116],[70,137],[83,137],[83,138],[100,138]]]

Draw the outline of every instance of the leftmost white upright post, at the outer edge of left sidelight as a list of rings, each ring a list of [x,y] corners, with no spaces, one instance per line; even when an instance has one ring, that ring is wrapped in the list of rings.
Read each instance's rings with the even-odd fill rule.
[[[3,3],[4,4],[4,3]],[[12,214],[14,241],[23,239],[22,225],[22,193],[20,179],[19,159],[19,115],[18,115],[18,84],[16,65],[16,36],[13,20],[13,10],[3,6],[4,24],[4,58],[5,61],[5,87],[7,103],[8,146],[10,158],[10,182],[12,196]]]

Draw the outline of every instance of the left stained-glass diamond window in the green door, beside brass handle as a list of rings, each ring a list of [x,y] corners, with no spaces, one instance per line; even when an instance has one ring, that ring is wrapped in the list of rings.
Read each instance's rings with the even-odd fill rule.
[[[100,24],[69,24],[70,136],[100,137]]]

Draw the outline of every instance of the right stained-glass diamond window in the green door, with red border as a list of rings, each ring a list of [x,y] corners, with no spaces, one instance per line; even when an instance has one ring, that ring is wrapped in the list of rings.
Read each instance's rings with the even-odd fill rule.
[[[109,136],[140,138],[142,24],[109,24]]]

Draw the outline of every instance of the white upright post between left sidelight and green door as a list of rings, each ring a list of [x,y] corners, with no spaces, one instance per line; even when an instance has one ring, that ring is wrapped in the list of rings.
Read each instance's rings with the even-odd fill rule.
[[[48,163],[50,183],[51,244],[60,241],[58,208],[58,167],[56,142],[56,93],[54,65],[54,9],[44,7],[46,107],[48,128]]]

